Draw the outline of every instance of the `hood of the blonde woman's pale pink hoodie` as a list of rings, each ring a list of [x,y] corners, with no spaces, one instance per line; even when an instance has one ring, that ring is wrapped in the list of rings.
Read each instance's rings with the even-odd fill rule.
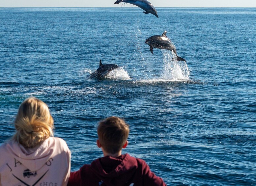
[[[56,150],[55,141],[52,137],[46,139],[42,145],[35,148],[24,148],[15,141],[6,146],[11,155],[30,171],[37,171],[50,159]]]

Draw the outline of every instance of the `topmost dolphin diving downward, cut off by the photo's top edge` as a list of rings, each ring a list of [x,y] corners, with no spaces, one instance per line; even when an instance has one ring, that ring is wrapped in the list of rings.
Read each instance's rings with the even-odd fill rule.
[[[145,12],[143,13],[152,13],[153,15],[156,15],[156,17],[158,17],[156,8],[147,0],[117,0],[114,4],[119,4],[121,2],[136,5],[137,7],[145,10]]]

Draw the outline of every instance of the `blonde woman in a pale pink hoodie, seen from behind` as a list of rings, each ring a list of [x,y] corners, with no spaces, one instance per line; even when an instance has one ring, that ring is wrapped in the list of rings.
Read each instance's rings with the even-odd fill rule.
[[[16,133],[0,146],[0,186],[63,186],[70,176],[70,150],[53,136],[47,105],[30,97],[21,103]]]

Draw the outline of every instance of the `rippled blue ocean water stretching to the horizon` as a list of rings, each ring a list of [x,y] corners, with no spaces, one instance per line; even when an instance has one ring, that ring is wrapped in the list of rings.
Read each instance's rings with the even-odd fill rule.
[[[19,104],[46,102],[71,170],[101,157],[98,122],[167,185],[256,185],[256,9],[0,8],[0,144]],[[167,31],[185,62],[145,40]],[[116,64],[106,80],[90,78]]]

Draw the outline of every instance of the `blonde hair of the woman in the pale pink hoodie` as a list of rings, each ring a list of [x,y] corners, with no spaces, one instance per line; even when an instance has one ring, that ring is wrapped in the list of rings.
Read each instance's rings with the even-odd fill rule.
[[[48,106],[35,97],[21,103],[14,124],[13,139],[24,147],[33,148],[53,136],[53,119]]]

